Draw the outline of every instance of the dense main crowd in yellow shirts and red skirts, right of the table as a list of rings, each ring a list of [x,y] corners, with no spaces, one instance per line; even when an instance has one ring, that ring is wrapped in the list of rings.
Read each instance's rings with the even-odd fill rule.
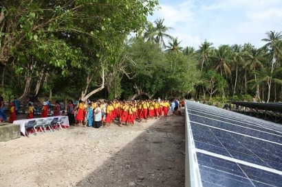
[[[147,123],[148,119],[159,119],[167,116],[169,110],[175,111],[184,103],[177,99],[169,103],[167,100],[139,100],[139,101],[79,101],[75,107],[72,100],[67,106],[69,124],[81,127],[111,126],[116,121],[120,127],[134,125],[136,121]]]

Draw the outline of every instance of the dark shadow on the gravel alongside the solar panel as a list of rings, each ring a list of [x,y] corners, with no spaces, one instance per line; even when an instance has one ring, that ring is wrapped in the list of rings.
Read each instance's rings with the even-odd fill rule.
[[[163,117],[76,186],[184,186],[184,132],[184,115]]]

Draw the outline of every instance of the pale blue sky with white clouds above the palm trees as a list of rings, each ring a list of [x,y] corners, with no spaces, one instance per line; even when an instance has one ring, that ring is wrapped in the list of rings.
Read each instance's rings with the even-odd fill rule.
[[[148,20],[164,18],[167,34],[181,47],[194,47],[207,40],[213,47],[243,45],[262,47],[266,32],[282,32],[281,0],[159,0]],[[167,42],[166,42],[166,45]]]

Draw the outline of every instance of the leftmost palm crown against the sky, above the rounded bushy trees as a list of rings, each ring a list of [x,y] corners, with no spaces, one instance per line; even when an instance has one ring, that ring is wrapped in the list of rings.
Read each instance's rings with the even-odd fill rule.
[[[173,28],[164,26],[164,19],[157,19],[154,23],[155,27],[147,29],[145,37],[154,38],[155,42],[158,43],[160,47],[166,48],[164,38],[173,39],[173,37],[166,34],[166,32]]]

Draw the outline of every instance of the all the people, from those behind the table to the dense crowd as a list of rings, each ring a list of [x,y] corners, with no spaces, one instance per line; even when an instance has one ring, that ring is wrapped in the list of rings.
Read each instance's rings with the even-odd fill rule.
[[[175,99],[167,101],[158,99],[147,99],[138,101],[78,101],[74,104],[72,100],[68,101],[67,110],[61,110],[61,104],[56,101],[52,110],[53,116],[67,115],[69,125],[81,127],[108,127],[115,121],[120,127],[123,125],[134,125],[136,121],[147,123],[149,119],[159,119],[161,116],[167,116],[169,110],[175,112],[184,105]],[[28,102],[27,119],[34,119],[34,105]],[[10,103],[10,117],[7,118],[3,97],[0,96],[0,121],[8,120],[10,123],[16,120],[19,114],[19,101],[17,98]],[[44,101],[41,108],[41,117],[45,118],[50,114],[50,102]]]

